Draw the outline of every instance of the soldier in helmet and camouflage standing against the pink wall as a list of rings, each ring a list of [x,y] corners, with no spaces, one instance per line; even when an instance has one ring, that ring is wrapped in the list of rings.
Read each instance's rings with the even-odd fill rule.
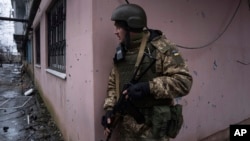
[[[113,108],[118,98],[125,95],[144,119],[138,122],[125,112],[119,125],[119,139],[167,141],[169,107],[174,104],[174,98],[189,93],[192,76],[175,44],[161,31],[147,28],[146,13],[140,6],[120,5],[113,11],[111,20],[120,44],[108,78],[106,114],[102,119],[104,134],[110,134],[110,128],[105,125],[112,123]],[[150,65],[152,62],[155,63]],[[139,81],[123,89],[133,76],[140,78]]]

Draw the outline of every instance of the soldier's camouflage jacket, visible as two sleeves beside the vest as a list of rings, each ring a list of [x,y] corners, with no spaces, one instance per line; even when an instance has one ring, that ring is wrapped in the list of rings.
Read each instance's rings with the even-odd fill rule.
[[[158,75],[149,81],[151,95],[155,99],[173,99],[187,95],[193,80],[176,45],[160,34],[150,39],[147,46],[156,49],[155,71]],[[116,88],[118,86],[116,75],[119,75],[119,72],[113,67],[108,78],[107,97],[104,101],[105,110],[112,109],[118,100],[119,88]]]

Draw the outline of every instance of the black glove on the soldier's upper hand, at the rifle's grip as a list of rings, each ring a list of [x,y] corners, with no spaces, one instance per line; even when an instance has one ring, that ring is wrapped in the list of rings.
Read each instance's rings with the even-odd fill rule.
[[[148,82],[140,82],[130,86],[128,89],[128,97],[131,100],[140,100],[150,94]]]

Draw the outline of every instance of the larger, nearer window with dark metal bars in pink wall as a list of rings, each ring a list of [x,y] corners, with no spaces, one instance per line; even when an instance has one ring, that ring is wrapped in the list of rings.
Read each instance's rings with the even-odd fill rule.
[[[66,0],[57,0],[48,11],[48,67],[66,72]]]

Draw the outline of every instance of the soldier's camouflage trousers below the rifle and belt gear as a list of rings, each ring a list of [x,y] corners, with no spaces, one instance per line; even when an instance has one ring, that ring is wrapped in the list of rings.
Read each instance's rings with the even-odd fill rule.
[[[124,116],[119,128],[119,141],[169,141],[167,136],[154,138],[148,125],[137,124],[130,116]]]

